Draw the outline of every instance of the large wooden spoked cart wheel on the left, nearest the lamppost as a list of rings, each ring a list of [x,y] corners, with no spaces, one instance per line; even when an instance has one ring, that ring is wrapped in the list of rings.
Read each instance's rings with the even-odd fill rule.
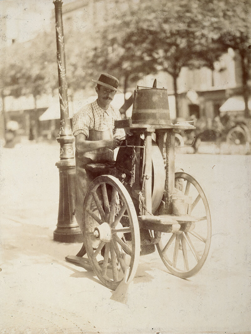
[[[86,253],[93,271],[109,289],[133,280],[139,262],[138,218],[124,185],[111,175],[93,180],[83,207]],[[128,278],[127,278],[128,276]]]

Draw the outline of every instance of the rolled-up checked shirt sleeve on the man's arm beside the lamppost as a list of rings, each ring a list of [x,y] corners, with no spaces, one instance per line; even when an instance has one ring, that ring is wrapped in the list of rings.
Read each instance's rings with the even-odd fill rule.
[[[91,108],[87,105],[73,115],[72,132],[75,137],[80,133],[86,135],[86,138],[89,137],[89,127],[91,123],[90,110]]]

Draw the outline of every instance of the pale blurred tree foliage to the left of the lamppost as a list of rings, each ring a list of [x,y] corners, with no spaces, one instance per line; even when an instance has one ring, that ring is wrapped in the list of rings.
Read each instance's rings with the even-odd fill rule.
[[[1,86],[7,94],[15,97],[31,94],[35,101],[44,93],[50,94],[55,88],[53,49],[47,33],[41,33],[26,43],[14,43],[8,49],[7,60],[1,68]]]

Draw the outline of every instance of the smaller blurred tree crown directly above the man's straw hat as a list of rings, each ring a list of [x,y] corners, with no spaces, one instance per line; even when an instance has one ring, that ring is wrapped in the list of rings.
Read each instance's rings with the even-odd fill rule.
[[[123,92],[144,75],[156,72],[156,68],[142,48],[136,48],[135,29],[137,27],[137,15],[130,3],[124,7],[118,2],[120,11],[112,17],[102,31],[98,32],[96,43],[92,48],[90,64],[92,68],[98,68],[110,72],[123,84]],[[138,8],[138,7],[137,7]]]

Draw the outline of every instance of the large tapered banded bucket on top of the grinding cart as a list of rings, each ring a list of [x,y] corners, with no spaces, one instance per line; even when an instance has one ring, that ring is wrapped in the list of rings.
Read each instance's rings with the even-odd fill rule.
[[[134,91],[132,123],[170,125],[170,110],[166,89],[137,88]]]

